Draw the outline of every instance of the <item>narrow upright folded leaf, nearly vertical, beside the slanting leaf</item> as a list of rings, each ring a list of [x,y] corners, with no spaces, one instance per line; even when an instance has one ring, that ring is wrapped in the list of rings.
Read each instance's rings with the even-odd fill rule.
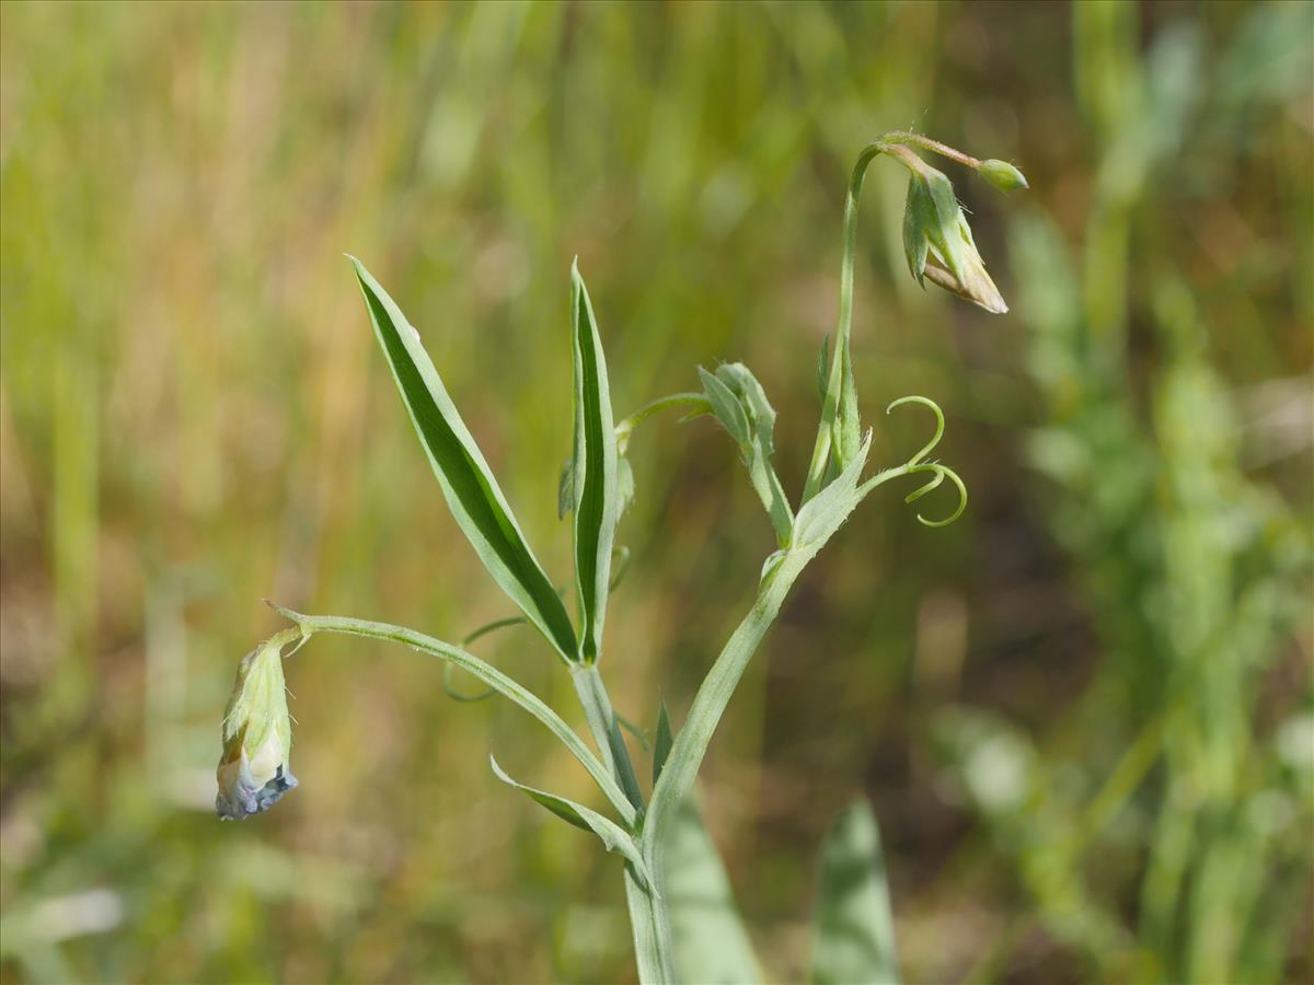
[[[587,663],[602,650],[602,626],[611,587],[611,545],[616,536],[616,429],[602,339],[578,265],[570,268],[570,320],[574,351],[574,546],[579,592],[579,655]]]

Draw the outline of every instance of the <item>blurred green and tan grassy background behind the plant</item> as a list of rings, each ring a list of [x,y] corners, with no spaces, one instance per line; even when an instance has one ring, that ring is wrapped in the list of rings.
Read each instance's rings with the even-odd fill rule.
[[[420,328],[540,558],[578,253],[618,414],[744,360],[798,489],[858,148],[953,165],[1013,313],[909,280],[863,201],[872,457],[943,406],[967,516],[882,492],[796,590],[704,770],[763,961],[876,809],[909,981],[1314,978],[1309,4],[0,5],[4,981],[632,978],[619,868],[498,784],[591,800],[417,654],[288,666],[302,787],[213,813],[259,604],[444,638],[506,613],[374,349]],[[725,437],[636,435],[603,671],[677,724],[770,527]],[[519,630],[481,653],[579,721]],[[579,722],[582,726],[582,722]]]

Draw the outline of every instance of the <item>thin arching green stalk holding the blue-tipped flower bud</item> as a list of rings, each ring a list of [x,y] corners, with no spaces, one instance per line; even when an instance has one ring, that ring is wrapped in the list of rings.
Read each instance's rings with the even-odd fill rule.
[[[561,739],[561,743],[570,750],[572,755],[579,760],[589,775],[620,813],[625,826],[633,830],[637,810],[629,797],[620,789],[611,772],[603,766],[598,756],[589,751],[589,746],[576,732],[566,725],[560,714],[553,712],[543,700],[518,684],[502,671],[485,663],[472,653],[466,653],[459,646],[452,646],[431,636],[417,633],[414,629],[394,626],[388,623],[372,623],[364,619],[348,619],[346,616],[306,616],[290,609],[279,608],[284,616],[301,626],[301,634],[309,637],[314,633],[344,633],[347,636],[360,636],[371,640],[386,640],[394,644],[403,644],[411,649],[420,650],[439,659],[447,661],[468,674],[474,675],[485,684],[495,687],[502,695],[515,701],[524,711],[543,722],[548,730]]]

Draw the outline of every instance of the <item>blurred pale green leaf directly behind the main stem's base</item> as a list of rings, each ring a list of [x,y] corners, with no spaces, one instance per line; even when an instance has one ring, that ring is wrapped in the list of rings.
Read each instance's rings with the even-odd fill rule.
[[[707,985],[762,981],[725,865],[698,808],[687,800],[668,834],[666,898],[679,981]]]

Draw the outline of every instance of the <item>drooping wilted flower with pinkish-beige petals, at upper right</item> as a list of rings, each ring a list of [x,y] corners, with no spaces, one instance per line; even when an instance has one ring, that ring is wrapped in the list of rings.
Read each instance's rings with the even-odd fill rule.
[[[922,286],[929,278],[992,314],[1008,311],[976,252],[953,184],[925,162],[915,160],[909,169],[903,239],[912,276]]]

